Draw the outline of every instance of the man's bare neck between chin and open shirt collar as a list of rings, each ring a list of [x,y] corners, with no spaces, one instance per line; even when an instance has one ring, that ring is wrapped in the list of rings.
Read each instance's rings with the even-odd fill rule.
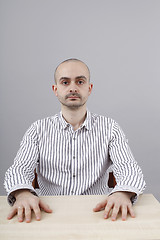
[[[74,131],[83,124],[86,118],[87,109],[85,105],[77,109],[62,107],[61,110],[64,119],[73,126]]]

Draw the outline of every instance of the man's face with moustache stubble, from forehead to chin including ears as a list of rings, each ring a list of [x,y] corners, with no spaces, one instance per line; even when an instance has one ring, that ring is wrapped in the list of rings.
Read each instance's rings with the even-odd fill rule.
[[[85,105],[92,87],[89,83],[89,71],[84,63],[69,61],[58,67],[53,90],[63,106],[77,109]]]

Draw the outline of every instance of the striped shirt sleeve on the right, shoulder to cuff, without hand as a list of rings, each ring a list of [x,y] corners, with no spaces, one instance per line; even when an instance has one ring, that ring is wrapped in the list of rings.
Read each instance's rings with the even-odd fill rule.
[[[115,122],[109,144],[109,155],[113,163],[112,170],[117,183],[110,194],[117,191],[134,192],[136,196],[131,201],[132,203],[136,202],[138,196],[143,193],[146,184],[142,170],[129,148],[128,140]]]

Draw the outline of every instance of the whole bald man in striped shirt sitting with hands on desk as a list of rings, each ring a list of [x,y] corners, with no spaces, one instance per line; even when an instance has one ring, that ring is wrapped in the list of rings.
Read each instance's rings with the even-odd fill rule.
[[[14,164],[5,175],[5,188],[12,206],[8,215],[21,222],[37,220],[41,210],[52,210],[38,195],[106,194],[106,200],[93,210],[105,209],[122,220],[135,217],[132,203],[145,188],[143,174],[128,146],[124,133],[112,119],[92,114],[86,102],[92,92],[90,72],[78,59],[62,62],[55,71],[53,91],[61,112],[36,121],[27,130]],[[112,168],[117,185],[108,188]],[[38,175],[39,190],[32,187]],[[112,211],[111,211],[112,210]]]

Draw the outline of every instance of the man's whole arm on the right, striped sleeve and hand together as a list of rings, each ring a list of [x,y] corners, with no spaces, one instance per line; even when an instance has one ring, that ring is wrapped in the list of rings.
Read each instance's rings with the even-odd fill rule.
[[[115,122],[109,142],[109,155],[117,184],[106,200],[99,203],[93,210],[105,209],[104,218],[108,218],[111,214],[112,220],[116,220],[119,212],[122,214],[122,220],[126,220],[127,213],[135,217],[132,203],[136,201],[139,194],[143,193],[145,181],[122,129]]]

